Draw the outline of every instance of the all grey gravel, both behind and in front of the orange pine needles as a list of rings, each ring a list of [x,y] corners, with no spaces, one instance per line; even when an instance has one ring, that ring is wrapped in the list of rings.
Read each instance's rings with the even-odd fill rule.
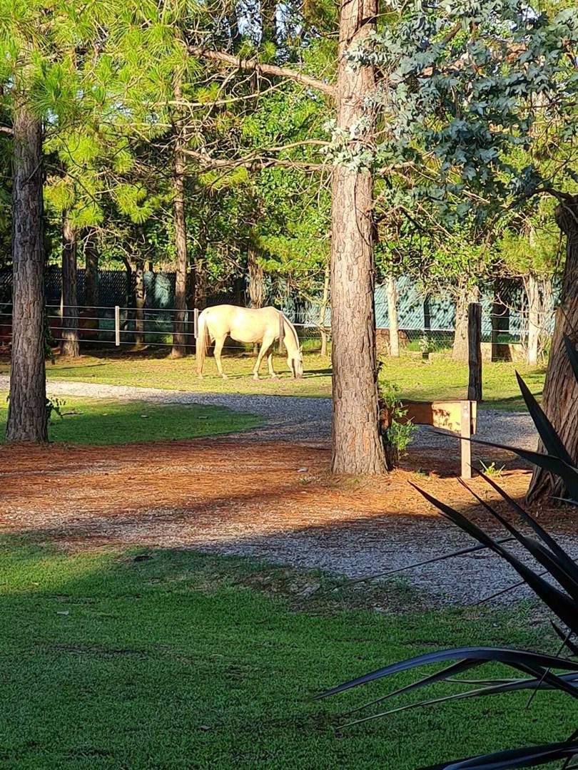
[[[0,377],[0,390],[8,387],[8,377]],[[202,403],[258,414],[266,418],[264,427],[237,434],[243,440],[287,440],[305,444],[327,444],[331,433],[331,400],[322,398],[257,396],[221,393],[194,393],[156,388],[102,385],[96,383],[49,381],[49,395],[143,400],[151,403]],[[498,438],[503,444],[534,447],[536,434],[531,420],[523,413],[483,409],[479,413],[481,438]],[[235,436],[224,440],[234,440]],[[223,440],[222,437],[219,439]],[[415,443],[422,447],[452,446],[455,437],[418,430]],[[258,507],[258,503],[254,503]],[[136,521],[116,521],[96,517],[96,531],[106,532],[119,541],[145,544],[152,541],[165,547],[195,547],[202,551],[257,557],[294,567],[320,568],[333,574],[361,577],[425,561],[471,544],[469,538],[440,518],[411,516],[375,517],[371,523],[343,521],[338,510],[326,526],[295,529],[271,527],[267,515],[247,521],[250,501],[227,506],[224,521],[203,526],[197,523],[187,533],[176,511],[151,508]],[[578,556],[578,537],[563,534],[560,542]],[[516,550],[516,549],[514,549]],[[481,551],[463,557],[419,567],[402,573],[408,584],[434,603],[469,603],[516,583],[516,573],[498,557]],[[498,598],[499,603],[528,596],[522,588]]]

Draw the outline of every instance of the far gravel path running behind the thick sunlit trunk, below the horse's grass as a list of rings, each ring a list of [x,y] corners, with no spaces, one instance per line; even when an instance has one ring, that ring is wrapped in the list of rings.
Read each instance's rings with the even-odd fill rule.
[[[8,384],[8,377],[0,376],[0,390],[8,390]],[[331,399],[328,398],[195,393],[64,380],[49,380],[47,390],[49,396],[87,396],[151,403],[202,403],[265,417],[267,423],[250,433],[244,433],[245,440],[325,442],[331,437]],[[478,415],[476,436],[485,440],[496,439],[500,444],[531,449],[536,446],[536,431],[532,420],[525,413],[482,409]],[[422,426],[418,428],[414,443],[418,447],[455,447],[455,438],[440,436]]]

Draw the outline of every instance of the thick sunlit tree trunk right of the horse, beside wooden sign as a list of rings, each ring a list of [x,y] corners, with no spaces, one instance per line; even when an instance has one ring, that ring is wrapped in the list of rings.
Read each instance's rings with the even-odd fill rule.
[[[375,119],[368,116],[365,98],[375,89],[375,72],[371,65],[351,67],[345,54],[375,32],[376,13],[376,0],[341,0],[337,125],[346,136],[362,131],[360,143],[373,135]],[[372,209],[371,173],[336,166],[331,210],[334,473],[385,473],[378,427]]]

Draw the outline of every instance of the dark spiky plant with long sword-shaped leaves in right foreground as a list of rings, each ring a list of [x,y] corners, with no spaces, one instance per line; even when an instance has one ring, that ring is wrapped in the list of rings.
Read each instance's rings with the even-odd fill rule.
[[[578,356],[567,337],[564,337],[564,343],[573,373],[576,380],[578,380]],[[526,406],[536,425],[539,437],[544,447],[546,447],[547,454],[539,454],[514,447],[503,447],[500,444],[489,444],[489,442],[484,441],[478,441],[477,443],[509,449],[518,454],[519,457],[523,457],[550,474],[560,477],[568,493],[566,502],[578,505],[578,468],[573,466],[570,455],[563,446],[563,442],[556,434],[556,430],[553,429],[552,424],[539,407],[532,393],[529,392],[526,383],[523,382],[519,375],[517,377]],[[336,695],[338,692],[358,687],[358,685],[365,685],[369,681],[375,681],[376,679],[398,674],[401,671],[408,671],[436,663],[449,663],[449,665],[445,665],[444,668],[435,674],[425,676],[411,685],[391,691],[387,695],[369,702],[362,708],[374,706],[388,698],[417,691],[427,685],[440,681],[470,686],[469,690],[466,691],[459,691],[453,695],[441,698],[428,698],[410,705],[391,708],[387,711],[358,719],[352,724],[391,715],[396,711],[405,711],[408,708],[439,704],[445,701],[456,701],[464,698],[480,698],[485,695],[500,695],[521,690],[527,690],[532,694],[539,690],[556,690],[563,692],[569,698],[578,698],[578,661],[572,659],[578,658],[578,646],[573,641],[573,639],[578,637],[578,564],[560,546],[556,539],[523,507],[516,503],[515,500],[512,500],[495,481],[486,474],[480,475],[501,495],[503,500],[506,500],[506,503],[509,504],[509,507],[516,514],[519,524],[524,525],[525,531],[522,531],[519,526],[511,524],[499,511],[496,511],[471,489],[470,492],[476,497],[479,504],[482,504],[486,511],[506,529],[508,537],[500,540],[492,537],[477,524],[469,521],[459,511],[455,511],[449,505],[436,500],[435,497],[432,497],[432,495],[424,490],[418,487],[415,487],[415,489],[426,500],[435,505],[443,517],[452,521],[462,531],[473,537],[478,544],[476,549],[487,548],[493,551],[516,570],[520,577],[520,581],[516,585],[529,585],[534,593],[558,618],[558,621],[551,622],[556,634],[560,637],[560,649],[555,655],[546,655],[526,650],[488,647],[463,647],[431,652],[385,666],[377,671],[371,671],[369,674],[344,682],[344,684],[325,691],[318,696],[319,698],[326,698],[329,695]],[[466,485],[464,484],[464,486]],[[529,531],[529,534],[526,534],[526,531]],[[506,547],[506,544],[509,542],[520,544],[533,557],[534,561],[539,564],[540,570],[536,570],[535,567],[528,567],[515,554],[512,554],[512,551]],[[448,554],[446,558],[452,556],[455,556],[455,554]],[[570,653],[570,657],[563,657],[563,653]],[[501,663],[515,671],[516,675],[512,675],[511,678],[502,679],[461,680],[457,678],[466,672],[481,668],[487,663]],[[470,770],[470,768],[477,768],[477,770],[482,770],[482,768],[483,770],[505,768],[506,770],[506,768],[537,767],[538,765],[547,765],[551,762],[559,761],[563,762],[562,768],[578,768],[578,764],[570,764],[573,758],[576,757],[578,757],[578,730],[565,741],[526,746],[524,748],[511,748],[502,752],[442,762],[439,765],[425,768],[425,770]]]

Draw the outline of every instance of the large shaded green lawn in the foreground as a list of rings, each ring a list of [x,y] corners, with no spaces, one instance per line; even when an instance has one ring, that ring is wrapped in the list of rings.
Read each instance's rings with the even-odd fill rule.
[[[335,611],[324,585],[297,606],[295,579],[191,551],[0,541],[0,768],[415,770],[576,725],[572,701],[544,693],[528,711],[527,694],[510,695],[335,731],[346,711],[409,681],[311,701],[345,678],[439,646],[556,641],[521,610]]]

